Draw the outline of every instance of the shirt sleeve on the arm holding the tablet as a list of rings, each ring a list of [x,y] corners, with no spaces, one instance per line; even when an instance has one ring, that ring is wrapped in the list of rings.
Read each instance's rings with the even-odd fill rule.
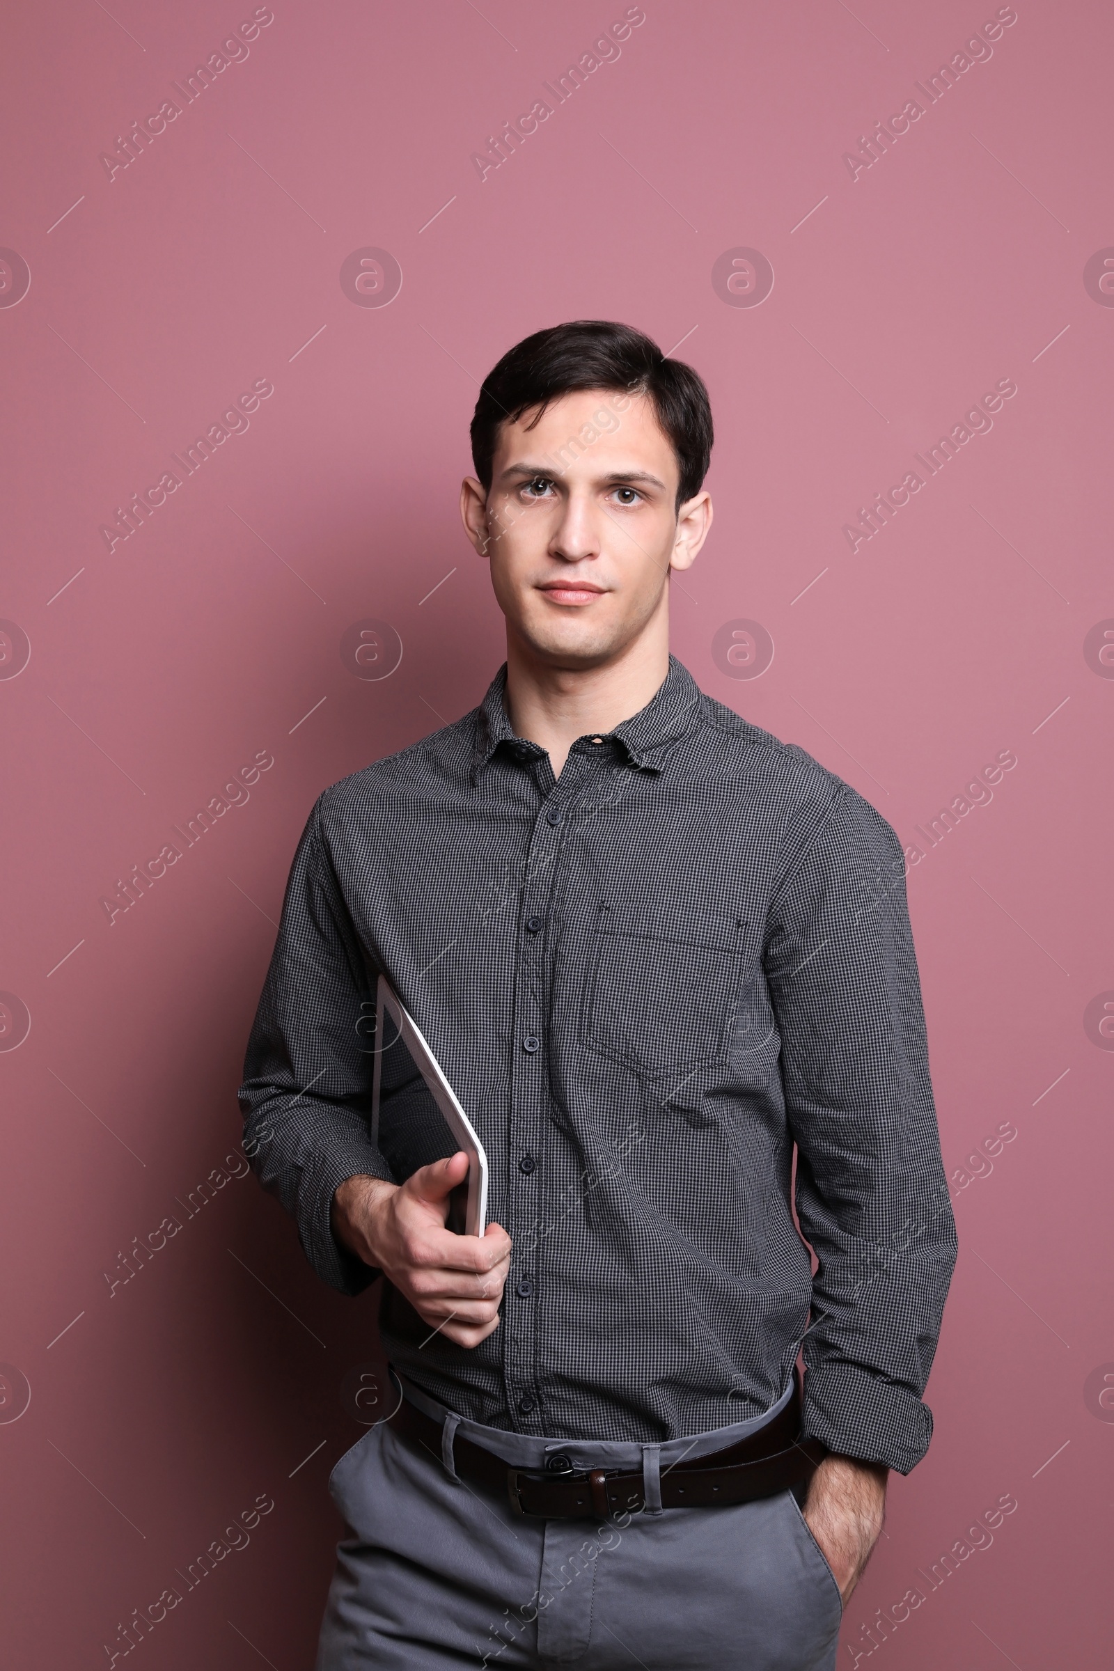
[[[294,857],[279,937],[247,1043],[239,1105],[244,1153],[297,1222],[317,1275],[359,1293],[376,1272],[331,1227],[346,1178],[391,1180],[371,1141],[371,993],[321,837],[321,800]]]

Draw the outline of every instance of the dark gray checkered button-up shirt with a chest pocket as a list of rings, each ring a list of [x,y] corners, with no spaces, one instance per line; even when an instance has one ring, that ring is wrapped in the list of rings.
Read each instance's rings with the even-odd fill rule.
[[[403,1374],[491,1427],[645,1442],[767,1410],[803,1348],[805,1430],[909,1472],[955,1225],[897,836],[676,660],[556,780],[504,680],[314,805],[247,1046],[252,1166],[327,1283],[376,1278],[337,1185],[454,1146],[413,1140],[397,1049],[371,1141],[382,971],[514,1243],[474,1350],[384,1282]]]

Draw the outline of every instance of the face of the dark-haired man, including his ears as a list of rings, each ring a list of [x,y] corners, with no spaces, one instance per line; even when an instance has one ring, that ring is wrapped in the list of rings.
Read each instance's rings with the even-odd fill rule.
[[[499,426],[491,491],[468,480],[461,515],[508,635],[551,667],[598,667],[665,625],[670,568],[696,556],[711,505],[676,513],[676,455],[643,396],[586,389],[534,416]]]

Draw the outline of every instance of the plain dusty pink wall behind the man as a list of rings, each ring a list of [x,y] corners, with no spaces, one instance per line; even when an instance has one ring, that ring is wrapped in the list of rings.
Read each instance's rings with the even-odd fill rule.
[[[99,154],[251,13],[7,17],[0,244],[32,282],[0,307],[0,615],[30,640],[0,680],[0,988],[30,1014],[0,1053],[5,1664],[110,1663],[169,1586],[182,1601],[134,1649],[149,1671],[312,1663],[326,1479],[361,1432],[341,1385],[376,1355],[376,1298],[327,1292],[252,1178],[192,1216],[175,1201],[237,1168],[244,1043],[314,797],[456,719],[501,660],[456,515],[468,419],[511,343],[578,316],[683,339],[708,381],[717,526],[673,620],[703,688],[907,844],[1017,757],[909,877],[962,1250],[934,1445],[894,1479],[840,1663],[1099,1664],[1114,1038],[1084,1013],[1114,988],[1114,667],[1084,640],[1114,617],[1114,296],[1084,264],[1114,244],[1109,7],[1019,0],[994,55],[852,179],[843,152],[992,3],[646,0],[621,57],[481,182],[473,150],[623,3],[276,0],[251,55],[110,180]],[[339,282],[369,246],[403,269],[387,307]],[[737,247],[773,266],[762,306],[713,289]],[[852,553],[843,523],[1007,378],[994,429]],[[251,428],[109,553],[115,506],[256,379],[274,394]],[[386,680],[341,660],[366,617],[404,647]],[[711,653],[737,618],[775,645],[757,680]],[[102,896],[257,752],[251,800],[110,924]],[[1015,1136],[962,1173],[1002,1123]],[[167,1215],[182,1228],[112,1290]],[[1007,1494],[992,1544],[929,1591],[917,1569]],[[251,1542],[225,1537],[257,1497]],[[175,1579],[222,1537],[241,1547]],[[895,1606],[867,1656],[862,1626]]]

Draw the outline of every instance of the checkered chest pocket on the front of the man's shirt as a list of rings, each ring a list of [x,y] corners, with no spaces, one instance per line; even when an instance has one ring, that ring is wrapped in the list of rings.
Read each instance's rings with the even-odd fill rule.
[[[590,949],[581,1039],[646,1074],[717,1061],[753,976],[735,916],[601,906]]]

